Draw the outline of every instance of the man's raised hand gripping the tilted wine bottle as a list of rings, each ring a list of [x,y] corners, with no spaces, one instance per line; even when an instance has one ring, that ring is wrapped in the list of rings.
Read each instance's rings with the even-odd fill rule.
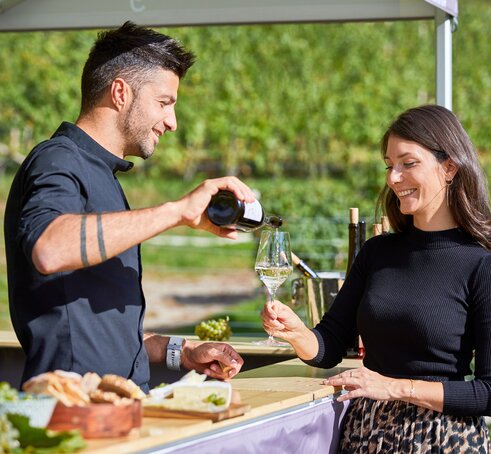
[[[235,230],[224,229],[212,224],[206,215],[206,208],[211,198],[220,190],[231,191],[239,200],[245,202],[250,203],[255,200],[252,190],[236,177],[205,180],[196,189],[175,202],[177,212],[181,216],[181,224],[194,229],[206,230],[217,236],[236,239]]]

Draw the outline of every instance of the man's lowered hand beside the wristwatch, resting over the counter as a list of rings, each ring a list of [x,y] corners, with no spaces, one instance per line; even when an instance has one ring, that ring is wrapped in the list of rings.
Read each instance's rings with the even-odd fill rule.
[[[186,341],[181,363],[186,369],[228,380],[239,373],[244,360],[230,345],[222,342]]]

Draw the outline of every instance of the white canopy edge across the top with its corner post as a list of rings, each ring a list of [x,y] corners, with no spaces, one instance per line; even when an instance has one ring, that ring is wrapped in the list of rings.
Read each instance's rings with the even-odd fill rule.
[[[0,0],[0,31],[434,19],[437,103],[452,108],[457,0]]]

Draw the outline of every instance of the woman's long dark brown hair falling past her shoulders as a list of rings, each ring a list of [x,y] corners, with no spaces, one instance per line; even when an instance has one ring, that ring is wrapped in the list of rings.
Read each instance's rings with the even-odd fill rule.
[[[486,175],[457,117],[437,105],[403,112],[382,138],[382,157],[386,155],[391,135],[427,148],[439,162],[451,159],[457,165],[458,171],[448,187],[452,215],[460,228],[491,250],[491,211]],[[380,211],[389,217],[394,232],[405,231],[413,225],[413,216],[400,212],[398,198],[387,183],[377,201],[377,213]]]

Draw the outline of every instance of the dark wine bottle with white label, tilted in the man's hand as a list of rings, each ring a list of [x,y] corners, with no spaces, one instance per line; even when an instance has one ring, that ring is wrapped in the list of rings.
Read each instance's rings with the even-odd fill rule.
[[[230,191],[219,191],[206,209],[208,219],[219,227],[251,232],[265,225],[279,228],[283,220],[279,216],[266,216],[261,203],[252,203],[237,199]]]

